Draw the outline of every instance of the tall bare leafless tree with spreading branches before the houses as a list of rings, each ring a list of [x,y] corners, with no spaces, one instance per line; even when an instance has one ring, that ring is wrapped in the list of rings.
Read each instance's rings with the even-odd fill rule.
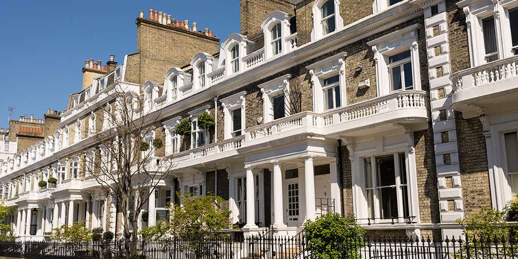
[[[111,88],[107,92],[112,93],[112,100],[104,107],[91,107],[90,123],[95,121],[95,126],[83,131],[95,140],[96,147],[85,155],[85,173],[116,199],[124,238],[136,240],[140,212],[175,165],[168,157],[153,154],[164,146],[153,134],[162,127],[154,101],[120,83]]]

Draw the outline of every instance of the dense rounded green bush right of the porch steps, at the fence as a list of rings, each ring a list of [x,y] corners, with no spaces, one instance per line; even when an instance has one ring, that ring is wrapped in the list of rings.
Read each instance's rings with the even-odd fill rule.
[[[314,258],[360,258],[364,247],[365,229],[356,224],[354,215],[347,218],[338,213],[326,213],[315,221],[304,223],[307,250]]]

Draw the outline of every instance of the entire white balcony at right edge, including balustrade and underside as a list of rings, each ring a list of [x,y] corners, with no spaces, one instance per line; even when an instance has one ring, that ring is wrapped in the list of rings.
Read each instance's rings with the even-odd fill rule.
[[[518,108],[518,56],[458,71],[450,80],[452,108],[463,112],[464,118],[480,115],[480,108],[486,112]]]

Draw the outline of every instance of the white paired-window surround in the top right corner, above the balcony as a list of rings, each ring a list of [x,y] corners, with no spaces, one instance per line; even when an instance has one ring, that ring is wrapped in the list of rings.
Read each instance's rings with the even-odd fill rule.
[[[517,8],[516,1],[461,1],[457,6],[463,8],[466,16],[469,56],[471,67],[486,64],[482,19],[493,16],[497,40],[498,60],[514,56],[509,10]]]

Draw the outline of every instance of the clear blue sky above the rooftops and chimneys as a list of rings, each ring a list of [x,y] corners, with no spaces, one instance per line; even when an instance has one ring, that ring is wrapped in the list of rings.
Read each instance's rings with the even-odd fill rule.
[[[0,1],[0,127],[8,126],[9,106],[11,119],[65,109],[69,94],[81,91],[85,60],[104,65],[114,54],[121,64],[136,52],[135,19],[141,10],[148,17],[150,8],[221,39],[239,32],[238,0]]]

